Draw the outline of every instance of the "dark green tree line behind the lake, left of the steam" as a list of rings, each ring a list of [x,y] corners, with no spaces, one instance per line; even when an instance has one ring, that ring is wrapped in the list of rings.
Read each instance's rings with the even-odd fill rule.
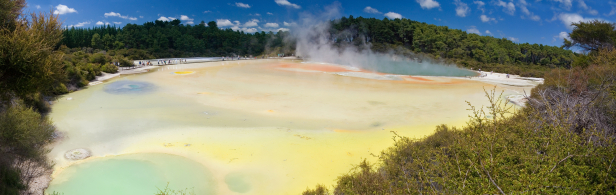
[[[182,25],[181,21],[154,21],[143,25],[127,24],[64,31],[61,44],[69,48],[91,47],[124,50],[128,59],[168,57],[261,55],[268,48],[288,48],[283,41],[288,32],[254,34],[219,29],[216,22]],[[291,52],[290,49],[288,52]],[[289,53],[290,54],[290,53]]]

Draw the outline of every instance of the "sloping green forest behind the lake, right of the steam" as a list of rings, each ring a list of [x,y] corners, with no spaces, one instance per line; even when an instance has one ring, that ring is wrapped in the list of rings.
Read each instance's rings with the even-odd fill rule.
[[[568,67],[574,56],[570,50],[559,47],[518,44],[504,38],[469,34],[409,19],[379,20],[350,16],[334,20],[331,25],[330,36],[337,45],[360,46],[371,43],[372,49],[378,52],[388,52],[402,46],[416,53],[431,54],[437,59],[458,59],[470,64],[481,64],[484,70],[495,64]],[[469,63],[461,65],[478,68],[469,66]]]

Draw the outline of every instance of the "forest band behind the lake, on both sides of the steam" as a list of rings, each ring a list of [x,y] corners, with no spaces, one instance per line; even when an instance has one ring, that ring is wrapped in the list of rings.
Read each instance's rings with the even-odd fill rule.
[[[467,68],[541,77],[552,68],[576,65],[579,54],[562,47],[515,43],[446,26],[413,21],[342,17],[329,21],[327,36],[340,48],[354,46],[399,55],[409,53]],[[254,34],[221,29],[216,22],[184,25],[180,20],[66,29],[59,45],[93,50],[123,50],[129,60],[167,57],[276,56],[295,52],[292,32]],[[131,50],[126,52],[125,50]],[[403,50],[403,52],[398,52]],[[140,54],[140,55],[137,55]]]

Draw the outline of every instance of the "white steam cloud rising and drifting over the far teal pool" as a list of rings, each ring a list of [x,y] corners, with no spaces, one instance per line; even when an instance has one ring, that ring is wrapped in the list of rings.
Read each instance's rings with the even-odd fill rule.
[[[325,62],[347,65],[371,71],[424,76],[472,76],[476,73],[428,59],[422,55],[408,53],[398,55],[392,50],[386,54],[375,53],[370,48],[369,37],[355,37],[363,39],[362,47],[352,44],[335,46],[332,44],[337,38],[342,37],[343,42],[352,42],[353,37],[345,36],[341,32],[336,35],[330,33],[330,21],[340,18],[340,4],[325,7],[325,10],[317,15],[304,12],[300,14],[300,25],[293,27],[291,31],[296,45],[296,56],[303,57],[307,61]]]

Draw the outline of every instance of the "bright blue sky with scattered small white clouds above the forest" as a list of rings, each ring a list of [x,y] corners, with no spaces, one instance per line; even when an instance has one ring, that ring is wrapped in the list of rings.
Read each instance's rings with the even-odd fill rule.
[[[66,26],[124,26],[181,19],[217,21],[246,32],[288,30],[300,13],[338,2],[339,16],[408,18],[515,42],[560,46],[572,22],[616,21],[616,0],[30,0],[30,12],[55,12]]]

